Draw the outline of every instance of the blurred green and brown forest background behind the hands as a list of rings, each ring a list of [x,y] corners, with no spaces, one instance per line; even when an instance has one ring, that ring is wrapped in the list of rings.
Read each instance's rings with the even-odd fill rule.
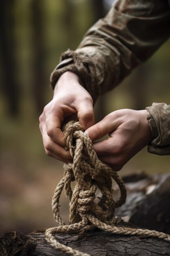
[[[62,163],[47,157],[39,116],[52,99],[49,76],[66,49],[76,49],[86,30],[113,0],[5,0],[0,8],[0,236],[55,225],[51,199]],[[95,106],[96,121],[121,108],[144,109],[169,101],[170,40]],[[170,156],[144,148],[119,172],[169,172]],[[68,201],[61,213],[67,222]]]

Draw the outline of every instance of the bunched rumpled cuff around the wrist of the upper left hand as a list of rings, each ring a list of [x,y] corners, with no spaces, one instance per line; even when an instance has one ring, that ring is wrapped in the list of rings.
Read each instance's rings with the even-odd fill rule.
[[[91,94],[93,102],[95,102],[99,95],[99,89],[95,88],[95,66],[91,59],[84,54],[68,50],[62,54],[60,60],[61,62],[51,73],[50,82],[52,88],[55,88],[55,84],[64,72],[70,71],[79,76],[84,88]]]

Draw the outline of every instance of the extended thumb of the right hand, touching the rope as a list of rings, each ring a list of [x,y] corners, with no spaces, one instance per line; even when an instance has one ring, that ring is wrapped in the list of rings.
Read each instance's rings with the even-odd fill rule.
[[[102,138],[104,135],[115,130],[120,121],[113,118],[114,116],[106,116],[102,121],[99,121],[97,124],[88,128],[85,133],[91,138],[92,141]]]

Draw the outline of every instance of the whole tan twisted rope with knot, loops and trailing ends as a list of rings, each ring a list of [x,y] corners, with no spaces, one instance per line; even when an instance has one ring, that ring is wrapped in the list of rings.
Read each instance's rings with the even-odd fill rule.
[[[83,234],[84,231],[96,227],[106,232],[122,235],[138,235],[142,237],[157,237],[170,242],[170,235],[148,229],[122,227],[121,219],[114,215],[115,208],[120,207],[126,200],[126,188],[118,173],[101,162],[94,150],[91,139],[84,134],[82,126],[77,121],[70,121],[63,127],[66,149],[70,151],[73,164],[64,164],[64,177],[57,185],[53,200],[53,216],[58,227],[52,227],[45,232],[47,242],[54,248],[73,256],[89,256],[76,249],[59,243],[55,234]],[[88,156],[83,155],[86,147]],[[120,198],[115,201],[111,194],[112,179],[118,184]],[[72,191],[71,182],[75,181]],[[59,199],[62,190],[71,201],[69,221],[65,225],[59,210]],[[102,197],[95,202],[95,192],[99,189]]]

